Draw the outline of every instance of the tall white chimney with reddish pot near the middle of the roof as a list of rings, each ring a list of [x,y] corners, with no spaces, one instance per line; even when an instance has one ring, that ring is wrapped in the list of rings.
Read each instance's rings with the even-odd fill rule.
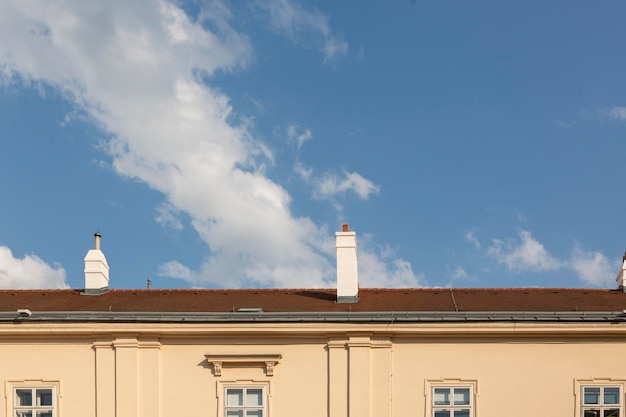
[[[347,224],[335,233],[337,240],[337,302],[356,303],[359,300],[359,272],[356,253],[356,233]]]

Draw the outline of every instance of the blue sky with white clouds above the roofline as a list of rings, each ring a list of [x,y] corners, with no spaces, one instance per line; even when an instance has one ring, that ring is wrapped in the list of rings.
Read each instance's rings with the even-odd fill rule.
[[[0,287],[613,288],[625,13],[2,2]]]

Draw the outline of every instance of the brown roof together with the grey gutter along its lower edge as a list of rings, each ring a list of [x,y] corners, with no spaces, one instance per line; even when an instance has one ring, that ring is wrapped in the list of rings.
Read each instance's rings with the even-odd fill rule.
[[[0,290],[0,319],[27,309],[51,321],[626,321],[621,290],[367,288],[357,303],[335,299],[334,289]]]

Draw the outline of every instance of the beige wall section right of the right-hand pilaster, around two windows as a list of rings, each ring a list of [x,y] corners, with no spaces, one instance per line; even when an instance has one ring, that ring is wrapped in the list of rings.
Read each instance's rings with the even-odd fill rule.
[[[394,415],[425,409],[425,381],[476,380],[480,416],[502,410],[574,416],[577,379],[625,378],[619,360],[624,340],[402,340],[394,343],[394,380],[415,387],[396,390]],[[520,414],[521,415],[521,414]]]

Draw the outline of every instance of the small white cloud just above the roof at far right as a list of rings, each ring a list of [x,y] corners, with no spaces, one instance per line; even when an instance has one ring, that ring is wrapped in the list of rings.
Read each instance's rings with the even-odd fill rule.
[[[601,252],[584,251],[577,244],[572,253],[571,266],[586,284],[603,287],[615,284],[618,268]]]

